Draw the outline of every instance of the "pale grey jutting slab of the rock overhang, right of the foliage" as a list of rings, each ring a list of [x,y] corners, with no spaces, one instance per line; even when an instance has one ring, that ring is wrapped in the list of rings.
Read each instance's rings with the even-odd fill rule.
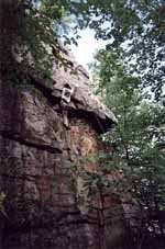
[[[100,132],[106,132],[112,123],[117,123],[114,114],[94,94],[86,69],[76,63],[68,49],[62,48],[61,53],[68,67],[65,70],[64,67],[54,64],[53,80],[55,84],[53,95],[61,97],[63,89],[67,86],[73,90],[68,107],[73,111],[84,111],[88,117],[94,118],[95,116],[96,121],[92,121],[98,122],[100,129],[102,129]]]

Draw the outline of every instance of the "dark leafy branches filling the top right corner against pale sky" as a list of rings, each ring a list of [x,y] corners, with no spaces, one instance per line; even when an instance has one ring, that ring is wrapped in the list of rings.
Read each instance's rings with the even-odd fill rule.
[[[96,31],[96,37],[108,41],[107,49],[117,52],[130,73],[139,75],[143,87],[150,87],[155,99],[163,93],[165,68],[164,0],[91,0],[80,1],[80,25]]]

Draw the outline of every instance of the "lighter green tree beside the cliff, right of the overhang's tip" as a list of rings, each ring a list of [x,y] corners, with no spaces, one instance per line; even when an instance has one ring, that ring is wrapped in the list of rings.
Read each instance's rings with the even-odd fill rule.
[[[107,155],[102,167],[110,173],[121,172],[122,178],[107,186],[124,200],[135,200],[140,208],[136,248],[142,248],[150,239],[163,239],[165,233],[164,109],[143,98],[141,81],[124,72],[116,54],[100,50],[92,68],[97,91],[119,121],[103,136],[116,152],[112,159]],[[128,219],[132,223],[132,216]]]

